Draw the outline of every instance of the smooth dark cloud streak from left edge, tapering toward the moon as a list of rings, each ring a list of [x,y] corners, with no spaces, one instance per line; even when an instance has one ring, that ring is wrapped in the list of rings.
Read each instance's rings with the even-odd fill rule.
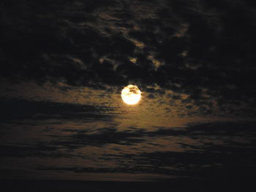
[[[45,120],[45,119],[107,119],[109,107],[86,104],[67,104],[51,101],[29,101],[25,99],[2,99],[1,120]]]

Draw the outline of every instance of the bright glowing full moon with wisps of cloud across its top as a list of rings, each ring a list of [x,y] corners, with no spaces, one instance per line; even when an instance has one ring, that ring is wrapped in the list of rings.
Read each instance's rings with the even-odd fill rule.
[[[137,104],[140,97],[141,93],[136,85],[128,85],[121,91],[121,98],[126,104]]]

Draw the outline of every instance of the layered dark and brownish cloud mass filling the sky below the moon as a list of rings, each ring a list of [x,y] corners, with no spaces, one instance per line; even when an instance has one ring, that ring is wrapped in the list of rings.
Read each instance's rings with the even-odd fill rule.
[[[12,170],[26,178],[31,172],[39,179],[56,175],[68,180],[118,180],[118,175],[132,180],[136,174],[133,180],[210,181],[219,175],[235,174],[236,180],[255,175],[255,122],[121,126],[124,119],[117,121],[99,107],[23,100],[6,104],[26,107],[27,113],[12,113],[1,122],[1,178],[15,177]]]

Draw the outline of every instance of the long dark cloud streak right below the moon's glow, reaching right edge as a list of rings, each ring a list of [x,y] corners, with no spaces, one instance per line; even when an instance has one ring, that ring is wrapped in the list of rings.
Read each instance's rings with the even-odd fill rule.
[[[211,145],[211,140],[222,140],[225,137],[239,137],[241,140],[245,139],[247,142],[253,142],[253,138],[256,135],[255,123],[201,123],[188,125],[186,128],[156,128],[156,131],[146,131],[142,128],[130,128],[127,131],[118,131],[117,128],[99,128],[96,133],[91,133],[91,130],[87,129],[64,129],[63,131],[69,132],[69,135],[51,135],[53,140],[51,145],[64,146],[67,148],[75,149],[85,146],[105,146],[110,144],[117,145],[136,145],[139,143],[147,142],[146,137],[191,137],[192,139],[207,138],[208,142],[201,142],[205,147],[201,148],[197,145],[195,150],[208,151],[207,145]],[[252,137],[252,138],[249,138]],[[227,142],[231,142],[228,140]],[[148,142],[151,145],[151,142]],[[184,148],[189,147],[186,143],[178,143]],[[230,143],[232,144],[232,143]],[[235,143],[236,144],[236,143]],[[153,144],[152,144],[153,145]],[[245,147],[243,143],[238,142],[236,145]],[[250,146],[248,144],[248,146]],[[163,146],[164,147],[164,146]],[[222,147],[218,146],[219,149]],[[225,148],[223,146],[223,148]],[[240,149],[240,147],[239,147]],[[228,148],[226,149],[228,150]],[[233,149],[234,151],[236,149]]]

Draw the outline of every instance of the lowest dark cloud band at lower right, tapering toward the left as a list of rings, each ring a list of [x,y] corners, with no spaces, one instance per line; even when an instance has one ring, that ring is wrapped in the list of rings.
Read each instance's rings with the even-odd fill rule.
[[[221,150],[220,150],[221,149]],[[239,152],[238,152],[239,151]],[[228,153],[227,153],[228,152]],[[231,177],[233,180],[249,179],[255,175],[252,158],[254,150],[237,150],[236,147],[209,147],[203,152],[186,153],[154,152],[130,155],[105,155],[105,161],[117,160],[114,168],[93,167],[39,167],[39,170],[75,172],[75,173],[133,173],[164,174],[189,177],[190,180],[220,181],[219,177]],[[132,159],[132,166],[128,164]],[[226,178],[227,179],[227,178]],[[159,180],[161,180],[159,178]],[[227,182],[230,180],[227,179]]]

